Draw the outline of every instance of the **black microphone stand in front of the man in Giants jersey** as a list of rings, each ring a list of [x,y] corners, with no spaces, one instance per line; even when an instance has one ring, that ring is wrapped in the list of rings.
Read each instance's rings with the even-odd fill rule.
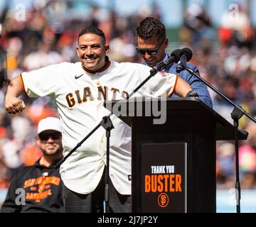
[[[166,65],[167,67],[168,65]],[[163,65],[156,65],[154,67],[151,68],[150,70],[150,74],[148,77],[146,77],[146,79],[144,79],[144,81],[139,84],[139,86],[137,88],[134,89],[134,91],[129,94],[127,96],[127,100],[132,97],[132,95],[135,94],[135,92],[137,92],[144,84],[146,84],[146,82],[148,82],[149,79],[151,79],[151,77],[154,77],[154,75],[159,72],[160,70],[163,70],[164,66]],[[118,101],[117,101],[118,103]],[[75,147],[70,150],[70,152],[68,153],[68,155],[65,155],[65,157],[63,157],[56,165],[55,165],[55,169],[57,169],[58,167],[60,167],[61,164],[63,164],[63,162],[65,162],[65,160],[72,155],[75,150],[77,150],[82,143],[85,142],[85,140],[87,140],[87,138],[90,138],[90,136],[95,133],[95,131],[97,131],[98,128],[100,128],[100,126],[102,126],[103,128],[105,128],[106,130],[106,138],[107,138],[107,166],[106,166],[106,172],[105,172],[105,204],[104,204],[104,213],[109,213],[109,184],[110,184],[110,131],[114,128],[113,123],[110,119],[110,116],[112,116],[112,113],[110,113],[107,116],[104,116],[102,118],[102,121],[100,121],[99,124],[97,124],[97,126],[95,126],[95,128],[92,129],[92,131],[90,131],[90,133],[88,133],[85,138],[83,138],[77,145],[75,145]]]

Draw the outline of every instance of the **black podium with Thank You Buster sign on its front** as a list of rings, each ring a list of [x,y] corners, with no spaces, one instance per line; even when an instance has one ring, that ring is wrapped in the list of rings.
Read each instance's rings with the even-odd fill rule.
[[[216,211],[216,140],[235,139],[231,123],[195,98],[106,101],[105,107],[132,127],[132,212]]]

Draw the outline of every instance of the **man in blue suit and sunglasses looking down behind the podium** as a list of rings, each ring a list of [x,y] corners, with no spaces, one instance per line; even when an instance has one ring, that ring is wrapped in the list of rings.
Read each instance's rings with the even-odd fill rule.
[[[137,27],[137,52],[142,56],[144,62],[142,64],[154,67],[157,63],[166,60],[169,55],[165,52],[168,47],[169,40],[166,37],[166,28],[163,23],[158,18],[146,17],[140,21]],[[195,70],[197,74],[198,68],[194,65],[187,64],[192,70]],[[174,63],[169,67],[166,67],[164,72],[169,72],[172,74],[176,73],[177,64]],[[194,77],[186,70],[183,70],[178,74],[182,79],[184,79],[195,91],[199,99],[205,104],[213,108],[213,103],[210,99],[210,94],[206,87],[206,84],[201,82],[200,79]],[[174,97],[175,94],[172,96]]]

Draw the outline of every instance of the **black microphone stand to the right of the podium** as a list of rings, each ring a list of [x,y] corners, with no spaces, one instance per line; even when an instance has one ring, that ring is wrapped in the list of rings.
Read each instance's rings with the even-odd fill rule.
[[[231,113],[231,117],[233,118],[234,121],[234,126],[235,126],[235,199],[236,199],[236,210],[237,213],[240,213],[240,199],[241,199],[241,189],[240,189],[240,179],[239,179],[239,157],[238,157],[238,126],[239,126],[239,119],[245,114],[248,118],[250,118],[253,122],[256,123],[256,119],[250,116],[244,109],[242,109],[241,106],[238,106],[235,104],[233,101],[228,99],[224,94],[222,94],[218,89],[215,89],[213,85],[209,84],[205,79],[200,77],[196,72],[191,70],[189,67],[184,67],[186,71],[188,71],[190,74],[193,76],[197,77],[200,79],[204,84],[206,84],[210,89],[213,89],[214,92],[219,94],[220,96],[223,97],[226,101],[228,101],[230,104],[234,106],[234,109]]]

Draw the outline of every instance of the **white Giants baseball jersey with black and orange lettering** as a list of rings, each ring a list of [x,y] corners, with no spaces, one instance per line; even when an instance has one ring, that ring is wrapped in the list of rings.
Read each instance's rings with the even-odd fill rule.
[[[81,62],[63,62],[39,70],[23,72],[21,79],[30,97],[55,99],[63,133],[63,154],[110,114],[105,99],[126,99],[146,77],[150,67],[136,63],[111,62],[105,70],[91,74]],[[175,74],[157,73],[139,89],[137,96],[170,96],[176,84]],[[111,116],[114,129],[110,137],[110,178],[120,194],[131,194],[131,128],[117,116]],[[66,187],[89,194],[100,182],[106,164],[105,129],[100,127],[60,166]]]

